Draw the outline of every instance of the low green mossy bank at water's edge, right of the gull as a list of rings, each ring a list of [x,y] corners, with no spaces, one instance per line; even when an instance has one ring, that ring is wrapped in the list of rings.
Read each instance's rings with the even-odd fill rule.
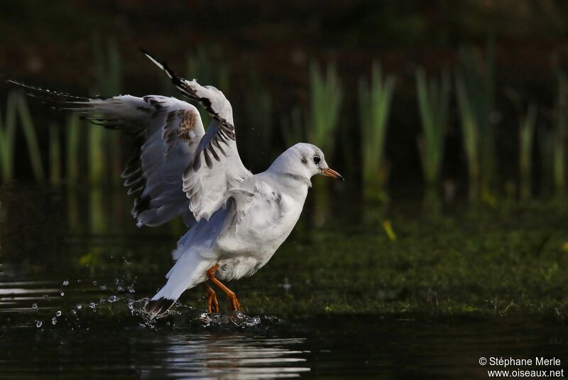
[[[464,210],[435,220],[401,214],[391,224],[395,241],[371,226],[320,230],[310,243],[292,239],[243,282],[242,304],[296,316],[566,315],[565,210]],[[267,293],[275,278],[283,290],[271,285]]]

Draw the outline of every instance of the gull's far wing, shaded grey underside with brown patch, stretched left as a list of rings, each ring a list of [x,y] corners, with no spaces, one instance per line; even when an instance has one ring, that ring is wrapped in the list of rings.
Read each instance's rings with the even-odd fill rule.
[[[56,108],[77,112],[94,124],[134,136],[136,151],[122,177],[129,195],[135,197],[132,215],[138,227],[158,226],[180,214],[185,224],[195,224],[182,185],[182,175],[205,134],[195,106],[158,95],[75,97],[11,83]]]

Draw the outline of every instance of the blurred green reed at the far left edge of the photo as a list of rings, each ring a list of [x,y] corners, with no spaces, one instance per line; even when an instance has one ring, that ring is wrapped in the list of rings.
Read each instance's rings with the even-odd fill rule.
[[[0,112],[0,175],[2,183],[13,180],[13,167],[16,150],[16,93],[8,94],[5,119]]]

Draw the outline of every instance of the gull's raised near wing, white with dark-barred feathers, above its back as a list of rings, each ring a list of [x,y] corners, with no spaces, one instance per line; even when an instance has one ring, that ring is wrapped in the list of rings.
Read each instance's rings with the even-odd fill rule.
[[[207,134],[201,139],[195,158],[183,174],[183,190],[190,199],[195,219],[209,219],[226,202],[229,191],[238,188],[252,175],[239,157],[236,148],[233,109],[224,94],[212,86],[201,86],[195,80],[185,80],[144,52],[170,77],[185,96],[205,107],[212,116]]]

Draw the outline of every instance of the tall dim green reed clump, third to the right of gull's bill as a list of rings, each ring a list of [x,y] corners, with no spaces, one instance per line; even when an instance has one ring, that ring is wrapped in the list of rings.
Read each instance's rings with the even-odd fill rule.
[[[456,92],[462,139],[469,168],[469,198],[494,202],[497,158],[495,133],[490,116],[494,102],[495,48],[486,46],[485,59],[478,50],[461,50],[461,68],[456,72]]]

